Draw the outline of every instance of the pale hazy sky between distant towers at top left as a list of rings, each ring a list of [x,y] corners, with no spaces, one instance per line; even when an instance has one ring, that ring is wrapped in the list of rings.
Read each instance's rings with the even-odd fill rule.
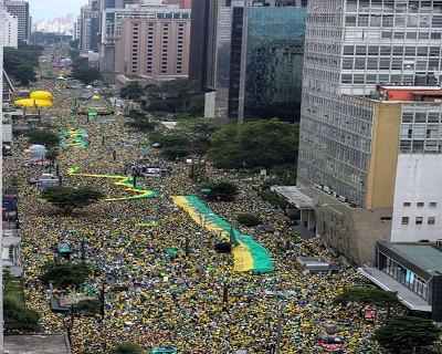
[[[25,0],[29,2],[32,21],[53,19],[67,13],[80,14],[80,8],[87,0]]]

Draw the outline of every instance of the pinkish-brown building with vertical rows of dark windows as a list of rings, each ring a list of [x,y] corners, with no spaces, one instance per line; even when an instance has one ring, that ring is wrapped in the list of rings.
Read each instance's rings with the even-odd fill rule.
[[[187,77],[190,19],[125,19],[115,70],[126,76]]]

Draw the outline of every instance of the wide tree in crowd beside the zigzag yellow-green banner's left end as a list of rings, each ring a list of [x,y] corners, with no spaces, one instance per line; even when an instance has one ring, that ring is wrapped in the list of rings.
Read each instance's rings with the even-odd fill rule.
[[[74,208],[83,208],[97,202],[103,199],[104,195],[91,188],[60,186],[46,188],[41,192],[40,197],[67,214]]]

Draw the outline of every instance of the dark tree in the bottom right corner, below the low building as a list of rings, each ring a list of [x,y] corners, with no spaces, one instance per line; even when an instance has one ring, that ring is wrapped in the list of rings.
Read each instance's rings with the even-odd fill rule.
[[[413,348],[419,353],[422,346],[429,346],[438,341],[441,334],[431,320],[414,316],[392,316],[387,323],[375,331],[372,339],[391,353],[404,353]]]

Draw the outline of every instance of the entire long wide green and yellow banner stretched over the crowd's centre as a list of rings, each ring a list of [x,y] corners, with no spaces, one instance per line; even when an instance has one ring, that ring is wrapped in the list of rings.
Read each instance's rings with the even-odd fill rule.
[[[232,244],[235,271],[273,271],[273,262],[265,247],[257,243],[250,235],[242,233],[214,215],[200,199],[194,196],[177,196],[173,197],[173,202],[189,214],[197,223],[201,223],[201,216],[203,216],[206,218],[203,227],[208,231],[220,233],[230,241],[235,239]]]

